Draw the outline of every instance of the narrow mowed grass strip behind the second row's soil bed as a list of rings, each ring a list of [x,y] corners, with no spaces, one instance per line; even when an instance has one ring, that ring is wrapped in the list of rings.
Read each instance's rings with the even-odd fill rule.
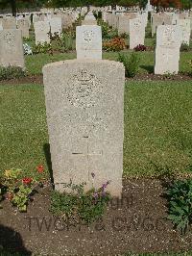
[[[126,55],[131,55],[132,50],[124,51]],[[155,65],[155,53],[152,51],[137,52],[140,57],[139,73],[152,73]],[[42,73],[42,67],[45,64],[54,62],[76,59],[76,53],[59,53],[53,56],[49,54],[36,54],[26,56],[25,62],[29,75],[37,75]],[[103,59],[117,61],[118,53],[104,52]],[[192,52],[180,52],[180,72],[192,72],[192,66],[189,62],[192,61]]]

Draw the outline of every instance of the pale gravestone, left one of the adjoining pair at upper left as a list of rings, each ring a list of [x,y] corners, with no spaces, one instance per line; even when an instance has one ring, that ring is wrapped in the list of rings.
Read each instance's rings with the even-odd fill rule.
[[[36,34],[36,44],[43,44],[45,42],[50,42],[50,24],[49,21],[36,21],[34,23],[35,34]]]

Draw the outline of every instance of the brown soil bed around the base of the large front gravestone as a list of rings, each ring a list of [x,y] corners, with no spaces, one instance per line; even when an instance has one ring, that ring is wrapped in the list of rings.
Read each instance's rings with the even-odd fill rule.
[[[119,206],[112,201],[103,221],[90,227],[55,220],[49,212],[50,192],[50,186],[40,189],[26,214],[13,211],[9,201],[3,201],[0,245],[22,251],[22,255],[122,255],[192,248],[192,233],[181,236],[166,219],[164,187],[159,180],[124,180]]]

